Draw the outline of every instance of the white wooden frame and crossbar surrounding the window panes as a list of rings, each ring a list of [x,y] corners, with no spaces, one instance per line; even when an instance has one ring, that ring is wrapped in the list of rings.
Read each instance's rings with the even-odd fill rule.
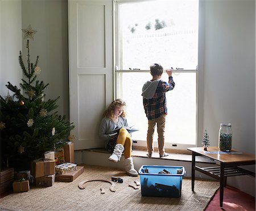
[[[119,96],[122,96],[122,93],[119,92],[119,80],[118,80],[118,74],[119,73],[129,73],[129,72],[148,72],[150,73],[149,69],[144,69],[144,70],[127,70],[127,69],[119,69],[119,67],[121,65],[119,65],[121,63],[120,59],[119,59],[119,55],[121,52],[121,46],[119,45],[119,40],[121,38],[121,33],[119,31],[120,27],[119,26],[119,19],[115,18],[116,16],[118,17],[118,4],[121,3],[132,3],[132,2],[144,2],[144,1],[155,1],[155,0],[133,0],[133,1],[126,1],[126,0],[113,0],[113,75],[114,75],[114,97],[115,98],[119,98]],[[201,67],[203,67],[203,60],[204,60],[204,53],[203,53],[203,43],[204,43],[204,39],[200,39],[201,37],[203,38],[203,36],[201,36],[203,34],[203,24],[201,24],[202,26],[200,27],[200,16],[203,15],[203,13],[201,12],[201,9],[204,6],[203,1],[199,1],[199,42],[198,42],[198,65],[196,67],[196,69],[179,69],[179,70],[174,70],[174,73],[196,73],[196,143],[195,144],[177,144],[177,143],[165,143],[165,147],[168,149],[175,149],[175,150],[185,150],[188,147],[196,147],[196,146],[200,146],[200,138],[201,138],[201,134],[203,129],[203,113],[199,114],[199,110],[201,110],[201,108],[203,108],[203,83],[201,83],[200,89],[201,92],[199,92],[199,84],[200,81],[203,81],[203,74],[201,74],[201,71],[199,71],[200,69],[203,69]],[[200,15],[201,13],[201,15]],[[200,42],[201,40],[201,42]],[[200,72],[200,74],[199,74]],[[200,96],[200,97],[199,97]],[[201,100],[200,100],[201,99]],[[202,119],[202,120],[201,120]],[[203,133],[202,133],[203,134]],[[133,146],[141,146],[141,147],[145,147],[146,146],[146,141],[145,140],[133,140]]]

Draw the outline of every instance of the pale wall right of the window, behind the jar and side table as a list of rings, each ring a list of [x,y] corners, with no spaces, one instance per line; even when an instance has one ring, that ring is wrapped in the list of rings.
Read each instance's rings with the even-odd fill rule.
[[[255,154],[255,1],[204,6],[203,127],[217,146],[220,123],[232,123],[233,148]]]

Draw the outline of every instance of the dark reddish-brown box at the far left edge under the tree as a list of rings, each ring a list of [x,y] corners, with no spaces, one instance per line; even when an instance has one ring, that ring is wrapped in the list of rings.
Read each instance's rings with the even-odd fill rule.
[[[14,168],[0,171],[0,194],[10,191],[14,181]]]

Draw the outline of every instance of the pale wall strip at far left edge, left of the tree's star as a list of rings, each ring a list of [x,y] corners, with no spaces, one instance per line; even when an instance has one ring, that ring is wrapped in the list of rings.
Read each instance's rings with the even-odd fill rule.
[[[22,49],[21,1],[0,1],[0,95],[7,95],[6,84],[19,85],[22,69],[19,51]],[[10,92],[10,94],[12,94]]]

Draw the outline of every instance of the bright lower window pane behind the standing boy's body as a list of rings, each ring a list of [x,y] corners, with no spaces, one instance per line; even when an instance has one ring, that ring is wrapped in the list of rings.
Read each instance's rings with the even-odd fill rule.
[[[126,101],[129,125],[139,131],[133,139],[146,140],[147,118],[143,109],[142,86],[151,80],[150,73],[119,73],[122,75],[122,98]],[[196,73],[173,73],[175,88],[166,93],[166,143],[196,144]],[[163,73],[162,79],[168,76]],[[157,141],[155,131],[154,141]]]

